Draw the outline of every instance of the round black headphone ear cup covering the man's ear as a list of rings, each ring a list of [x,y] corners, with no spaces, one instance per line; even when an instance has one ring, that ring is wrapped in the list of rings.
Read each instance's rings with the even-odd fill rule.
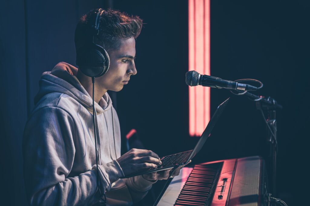
[[[86,76],[100,77],[108,71],[110,58],[104,48],[92,44],[78,49],[76,64]]]

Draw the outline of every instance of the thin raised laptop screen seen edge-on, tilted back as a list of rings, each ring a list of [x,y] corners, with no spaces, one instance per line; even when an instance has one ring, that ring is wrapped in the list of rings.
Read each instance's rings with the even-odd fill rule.
[[[230,99],[230,97],[217,107],[217,109],[216,109],[215,113],[213,114],[212,118],[210,119],[205,131],[203,131],[199,141],[197,142],[195,148],[193,149],[192,154],[189,156],[189,158],[187,159],[185,164],[187,164],[188,161],[190,161],[200,151],[202,146],[205,144],[206,140],[208,139],[208,137],[211,134],[213,127],[215,126],[216,122],[219,120],[219,117],[223,113],[226,105],[228,104],[229,99]]]

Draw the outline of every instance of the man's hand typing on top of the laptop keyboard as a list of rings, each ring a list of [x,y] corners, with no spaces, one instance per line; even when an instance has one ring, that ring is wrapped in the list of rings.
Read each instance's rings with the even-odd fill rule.
[[[129,175],[142,169],[156,168],[162,164],[157,154],[151,150],[131,149],[116,160],[124,175]]]

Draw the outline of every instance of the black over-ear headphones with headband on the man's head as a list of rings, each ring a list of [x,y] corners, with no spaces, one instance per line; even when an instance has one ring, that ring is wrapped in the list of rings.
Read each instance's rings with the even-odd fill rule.
[[[94,43],[94,37],[99,34],[100,17],[103,9],[94,10],[87,20],[86,44],[77,49],[76,64],[83,74],[90,77],[104,75],[110,66],[110,58],[107,51]]]

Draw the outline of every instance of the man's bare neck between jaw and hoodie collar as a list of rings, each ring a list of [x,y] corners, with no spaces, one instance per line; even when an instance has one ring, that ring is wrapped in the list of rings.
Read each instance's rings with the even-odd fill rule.
[[[91,77],[84,75],[82,72],[78,71],[77,78],[85,88],[86,92],[88,92],[89,96],[93,97],[93,83],[91,82]],[[94,92],[94,100],[99,103],[101,97],[107,92],[106,89],[100,88],[98,83],[95,81],[95,92]]]

